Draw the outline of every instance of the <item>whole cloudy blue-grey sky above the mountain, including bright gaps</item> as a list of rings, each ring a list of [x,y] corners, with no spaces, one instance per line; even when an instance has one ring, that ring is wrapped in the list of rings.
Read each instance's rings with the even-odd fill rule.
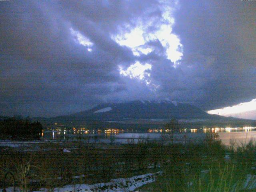
[[[10,0],[0,10],[1,115],[170,99],[229,116],[212,110],[256,98],[256,1]],[[256,105],[237,115],[256,119]]]

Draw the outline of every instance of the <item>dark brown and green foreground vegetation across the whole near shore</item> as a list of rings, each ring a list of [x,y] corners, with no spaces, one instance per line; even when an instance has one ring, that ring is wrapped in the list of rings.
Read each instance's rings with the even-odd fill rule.
[[[70,152],[68,152],[70,151]],[[23,191],[49,190],[66,184],[94,184],[112,178],[162,171],[142,191],[238,192],[256,191],[256,145],[222,146],[215,135],[179,143],[90,144],[59,142],[38,144],[36,151],[0,148],[0,188],[15,185]],[[256,180],[255,180],[256,181]]]

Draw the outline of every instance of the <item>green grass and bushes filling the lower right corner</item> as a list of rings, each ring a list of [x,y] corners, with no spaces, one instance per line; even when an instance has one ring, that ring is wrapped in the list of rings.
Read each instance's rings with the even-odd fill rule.
[[[177,150],[176,150],[177,152]],[[254,179],[245,185],[248,174],[255,174],[256,144],[252,141],[226,149],[218,140],[189,144],[163,167],[157,182],[140,188],[142,192],[252,192]],[[230,154],[230,159],[225,155]]]

